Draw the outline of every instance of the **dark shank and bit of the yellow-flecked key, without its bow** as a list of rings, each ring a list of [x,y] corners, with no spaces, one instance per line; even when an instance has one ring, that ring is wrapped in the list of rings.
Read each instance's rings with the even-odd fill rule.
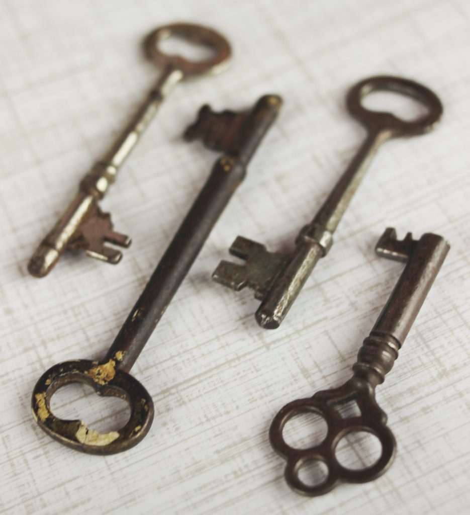
[[[124,356],[120,368],[130,370],[217,219],[245,177],[248,161],[273,123],[281,104],[280,97],[266,95],[247,115],[229,112],[230,116],[223,122],[219,118],[217,131],[214,131],[214,121],[218,115],[208,114],[208,108],[203,108],[198,122],[187,130],[187,139],[204,138],[209,128],[210,135],[214,132],[228,134],[228,139],[223,143],[225,153],[216,161],[211,175],[132,308],[105,361],[120,351]],[[211,119],[208,120],[208,117]],[[211,140],[210,144],[214,146],[214,141]]]

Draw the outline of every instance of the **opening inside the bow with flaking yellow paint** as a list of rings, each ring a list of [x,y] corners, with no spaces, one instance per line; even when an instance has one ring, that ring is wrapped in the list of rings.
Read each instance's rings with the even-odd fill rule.
[[[89,385],[69,383],[61,386],[50,399],[50,409],[63,420],[82,420],[100,434],[118,431],[131,416],[127,401],[119,397],[103,397]]]

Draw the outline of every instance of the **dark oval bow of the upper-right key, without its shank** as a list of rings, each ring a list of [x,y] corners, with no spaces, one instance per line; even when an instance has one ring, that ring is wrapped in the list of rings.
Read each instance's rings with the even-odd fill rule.
[[[362,99],[373,91],[390,91],[409,96],[421,102],[428,112],[414,121],[406,121],[386,111],[371,111],[362,105]],[[347,94],[350,113],[370,130],[386,131],[390,136],[423,134],[439,122],[443,107],[438,96],[431,90],[414,82],[390,75],[379,75],[361,80]]]

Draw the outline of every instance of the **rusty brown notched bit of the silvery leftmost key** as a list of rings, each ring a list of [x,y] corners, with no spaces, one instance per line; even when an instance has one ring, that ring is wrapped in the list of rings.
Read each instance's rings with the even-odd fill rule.
[[[113,230],[109,213],[103,213],[95,203],[89,216],[80,224],[74,237],[67,245],[68,250],[84,249],[92,258],[116,264],[123,257],[122,252],[105,245],[110,243],[128,248],[131,238]]]

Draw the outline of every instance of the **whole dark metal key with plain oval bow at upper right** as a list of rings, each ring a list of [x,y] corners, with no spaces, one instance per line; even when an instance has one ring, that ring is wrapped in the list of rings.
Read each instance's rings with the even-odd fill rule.
[[[361,101],[376,90],[413,97],[421,101],[428,112],[416,121],[408,122],[391,113],[369,111]],[[246,264],[222,261],[213,273],[215,281],[234,290],[245,286],[254,289],[255,298],[262,301],[255,317],[265,329],[276,329],[281,325],[318,260],[328,253],[333,244],[333,233],[377,148],[390,138],[430,131],[442,114],[441,102],[432,91],[411,80],[388,76],[371,77],[356,84],[347,95],[347,107],[367,129],[367,138],[315,218],[300,231],[293,252],[271,253],[264,245],[238,236],[230,253],[246,260]]]

